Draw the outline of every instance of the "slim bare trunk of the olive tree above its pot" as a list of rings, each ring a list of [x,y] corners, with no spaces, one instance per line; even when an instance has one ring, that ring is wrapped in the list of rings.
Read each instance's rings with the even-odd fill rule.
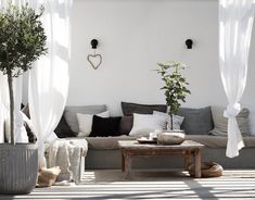
[[[8,86],[9,86],[9,97],[10,97],[11,143],[15,145],[15,138],[14,138],[14,98],[13,98],[13,85],[12,85],[12,71],[8,72]]]

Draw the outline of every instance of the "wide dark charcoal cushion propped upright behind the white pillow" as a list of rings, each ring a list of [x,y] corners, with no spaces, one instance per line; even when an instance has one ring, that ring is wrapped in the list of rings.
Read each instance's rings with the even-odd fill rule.
[[[166,112],[167,107],[165,104],[137,104],[129,102],[122,102],[122,109],[124,115],[139,114],[152,114],[153,111]]]

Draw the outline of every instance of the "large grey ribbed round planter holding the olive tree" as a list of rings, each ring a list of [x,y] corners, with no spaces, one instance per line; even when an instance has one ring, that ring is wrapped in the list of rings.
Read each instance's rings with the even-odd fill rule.
[[[37,145],[0,143],[0,193],[29,193],[36,186],[37,172]]]

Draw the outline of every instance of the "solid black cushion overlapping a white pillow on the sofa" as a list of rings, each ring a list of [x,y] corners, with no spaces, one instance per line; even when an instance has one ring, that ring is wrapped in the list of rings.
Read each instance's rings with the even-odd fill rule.
[[[119,123],[122,117],[101,117],[93,115],[92,132],[90,137],[119,136]]]

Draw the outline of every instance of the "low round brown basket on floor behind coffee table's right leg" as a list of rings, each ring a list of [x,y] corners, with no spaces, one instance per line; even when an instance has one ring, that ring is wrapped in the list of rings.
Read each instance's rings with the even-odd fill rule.
[[[188,167],[189,174],[194,176],[194,164]],[[201,163],[201,177],[219,177],[222,175],[224,168],[216,162]]]

